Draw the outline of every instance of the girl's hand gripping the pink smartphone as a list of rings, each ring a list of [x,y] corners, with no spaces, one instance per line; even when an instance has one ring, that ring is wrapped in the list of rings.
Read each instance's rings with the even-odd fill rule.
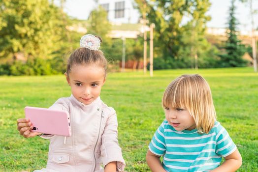
[[[37,132],[31,132],[32,129],[33,129],[33,125],[32,125],[32,122],[30,122],[30,119],[28,118],[17,119],[17,130],[20,132],[20,135],[22,135],[25,138],[30,138],[41,134]]]

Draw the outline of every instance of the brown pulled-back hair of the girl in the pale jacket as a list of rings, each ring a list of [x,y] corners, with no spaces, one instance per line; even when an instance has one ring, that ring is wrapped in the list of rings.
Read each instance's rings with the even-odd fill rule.
[[[100,42],[102,42],[102,39],[99,36],[96,36]],[[103,67],[104,69],[104,74],[106,75],[107,71],[107,60],[101,50],[90,50],[85,47],[80,47],[72,54],[67,60],[67,65],[66,65],[66,73],[69,75],[69,72],[71,71],[72,65],[77,64],[96,64],[100,67]]]

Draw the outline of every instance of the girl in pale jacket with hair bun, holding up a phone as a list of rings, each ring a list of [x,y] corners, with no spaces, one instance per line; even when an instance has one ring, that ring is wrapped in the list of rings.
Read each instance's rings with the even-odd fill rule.
[[[69,57],[65,77],[71,96],[58,99],[50,109],[65,110],[70,115],[71,137],[33,133],[29,119],[17,120],[25,138],[40,135],[50,139],[46,169],[37,172],[122,172],[125,161],[118,145],[117,116],[100,97],[106,80],[107,61],[98,50],[101,39],[94,35],[81,38],[81,48]]]

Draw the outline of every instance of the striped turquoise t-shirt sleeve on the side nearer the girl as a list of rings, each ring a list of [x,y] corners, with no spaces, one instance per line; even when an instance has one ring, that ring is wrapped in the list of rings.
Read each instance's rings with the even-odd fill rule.
[[[165,145],[163,123],[160,125],[160,127],[155,132],[155,134],[151,140],[151,143],[149,144],[149,150],[158,156],[165,154],[166,145]]]

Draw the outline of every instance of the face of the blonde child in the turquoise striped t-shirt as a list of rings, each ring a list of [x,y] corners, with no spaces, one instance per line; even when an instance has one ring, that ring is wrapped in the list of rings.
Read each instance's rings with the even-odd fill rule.
[[[180,108],[165,108],[166,120],[177,131],[193,130],[196,125],[194,118],[190,115],[188,110]]]

